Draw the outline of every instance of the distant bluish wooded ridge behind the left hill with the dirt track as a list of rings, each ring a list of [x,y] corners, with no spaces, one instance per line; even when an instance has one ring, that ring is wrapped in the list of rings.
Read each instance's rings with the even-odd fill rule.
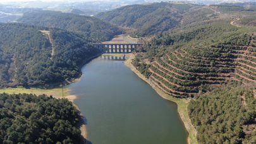
[[[29,11],[18,19],[22,23],[49,28],[63,28],[83,34],[95,41],[107,41],[123,32],[121,28],[91,16],[61,13],[58,11]]]

